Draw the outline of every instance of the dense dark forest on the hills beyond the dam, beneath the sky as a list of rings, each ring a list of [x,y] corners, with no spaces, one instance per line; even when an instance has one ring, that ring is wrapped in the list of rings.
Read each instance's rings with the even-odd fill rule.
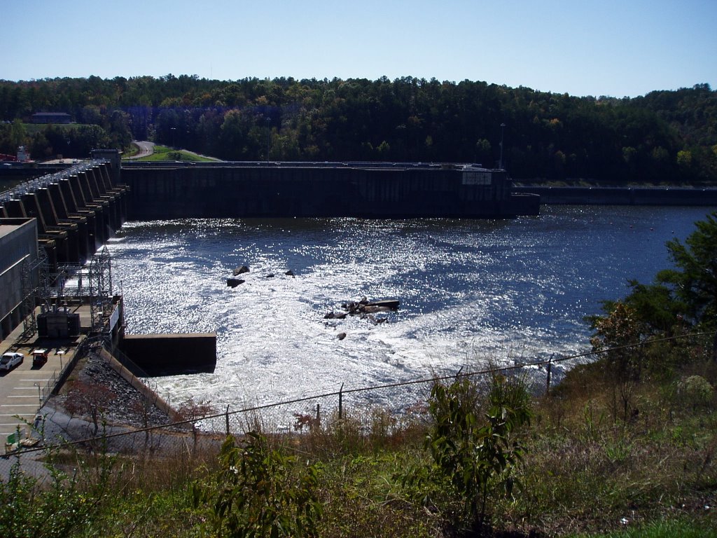
[[[136,138],[228,160],[497,166],[502,154],[516,179],[717,181],[717,92],[706,84],[617,99],[414,77],[0,80],[0,120],[41,111],[85,127],[30,136],[4,123],[0,153],[21,139],[41,158],[85,151],[88,139],[122,148]]]

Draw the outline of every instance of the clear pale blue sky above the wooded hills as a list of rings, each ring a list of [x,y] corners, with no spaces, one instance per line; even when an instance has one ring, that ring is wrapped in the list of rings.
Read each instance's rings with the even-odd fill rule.
[[[2,0],[0,79],[484,80],[717,89],[717,0]]]

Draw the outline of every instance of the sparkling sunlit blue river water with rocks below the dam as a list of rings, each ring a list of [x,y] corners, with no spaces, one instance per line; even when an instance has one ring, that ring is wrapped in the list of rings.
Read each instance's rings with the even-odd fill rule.
[[[160,395],[235,409],[584,351],[584,316],[624,296],[630,278],[669,267],[665,242],[707,213],[549,206],[497,221],[128,222],[108,247],[128,334],[217,333],[216,371],[153,379]],[[246,282],[228,288],[240,265]],[[324,318],[362,296],[401,307],[379,325]]]

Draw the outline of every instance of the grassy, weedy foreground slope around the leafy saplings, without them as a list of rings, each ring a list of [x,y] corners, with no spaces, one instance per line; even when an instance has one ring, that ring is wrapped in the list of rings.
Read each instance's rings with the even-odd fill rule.
[[[239,536],[227,527],[237,499],[222,516],[216,495],[227,477],[248,472],[237,462],[260,454],[262,486],[254,496],[244,493],[243,506],[254,506],[259,492],[259,505],[292,511],[301,496],[280,492],[304,487],[321,507],[303,527],[307,536],[715,536],[717,364],[703,343],[652,349],[663,353],[664,368],[644,375],[629,395],[603,360],[576,367],[549,395],[531,397],[530,423],[509,435],[523,451],[512,469],[515,486],[501,494],[504,481],[493,475],[489,524],[478,530],[467,530],[465,499],[449,481],[407,480],[435,464],[424,443],[436,423],[430,402],[402,416],[346,409],[341,420],[326,416],[320,424],[298,417],[303,431],[267,433],[260,443],[239,435],[244,459],[236,465],[227,463],[226,448],[220,455],[216,435],[197,442],[204,436],[179,430],[172,435],[184,442],[163,450],[122,453],[101,441],[50,450],[43,459],[53,472],[44,481],[20,466],[3,483],[0,530],[18,537]],[[482,417],[485,379],[470,387]],[[260,417],[247,420],[246,430],[260,431]],[[645,525],[645,534],[628,534]]]

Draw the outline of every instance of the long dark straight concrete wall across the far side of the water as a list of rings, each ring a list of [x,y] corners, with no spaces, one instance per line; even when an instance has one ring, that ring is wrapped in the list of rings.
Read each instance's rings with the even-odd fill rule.
[[[505,171],[473,167],[123,166],[131,220],[183,217],[514,217],[538,214]]]

